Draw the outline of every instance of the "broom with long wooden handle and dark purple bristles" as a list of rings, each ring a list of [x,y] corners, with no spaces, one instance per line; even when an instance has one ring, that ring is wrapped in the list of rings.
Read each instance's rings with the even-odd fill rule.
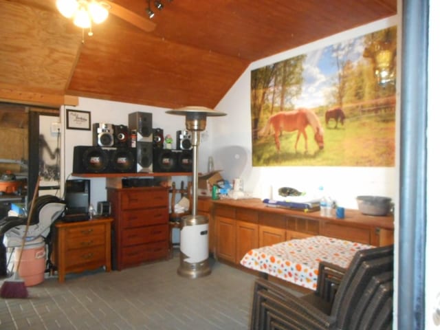
[[[21,256],[23,256],[23,250],[25,248],[26,235],[28,234],[28,230],[29,230],[30,218],[34,210],[34,202],[39,190],[39,182],[40,182],[40,177],[38,177],[38,179],[36,180],[34,197],[32,197],[32,201],[30,204],[30,211],[28,213],[28,221],[26,222],[25,233],[23,234],[23,239],[21,240],[21,250],[19,256],[19,262],[17,263],[17,270],[15,270],[14,275],[6,279],[1,285],[0,288],[1,298],[28,298],[28,289],[26,288],[25,281],[23,281],[23,279],[20,278],[19,276],[19,268],[21,263]]]

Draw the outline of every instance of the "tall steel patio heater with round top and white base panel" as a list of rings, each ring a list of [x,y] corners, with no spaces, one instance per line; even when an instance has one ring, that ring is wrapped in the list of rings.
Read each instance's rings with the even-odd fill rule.
[[[206,117],[226,113],[206,107],[184,107],[166,113],[185,115],[186,129],[191,132],[192,144],[192,208],[191,214],[182,217],[180,223],[180,265],[177,274],[187,278],[207,276],[211,274],[208,264],[208,218],[197,215],[200,132],[206,129]]]

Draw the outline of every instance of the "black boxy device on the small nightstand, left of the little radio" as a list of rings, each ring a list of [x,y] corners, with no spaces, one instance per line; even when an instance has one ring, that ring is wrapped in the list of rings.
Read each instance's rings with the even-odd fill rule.
[[[65,202],[66,214],[85,214],[87,219],[90,204],[90,180],[66,180]]]

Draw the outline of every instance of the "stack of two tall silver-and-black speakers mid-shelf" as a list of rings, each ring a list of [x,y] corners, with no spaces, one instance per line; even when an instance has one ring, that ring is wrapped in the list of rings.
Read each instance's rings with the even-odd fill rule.
[[[153,172],[153,115],[148,112],[129,113],[129,131],[136,131],[135,172]]]

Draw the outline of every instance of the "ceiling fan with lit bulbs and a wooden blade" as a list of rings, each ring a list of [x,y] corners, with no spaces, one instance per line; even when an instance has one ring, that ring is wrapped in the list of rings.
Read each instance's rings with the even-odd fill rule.
[[[90,28],[92,22],[102,23],[107,19],[109,13],[145,32],[151,32],[156,28],[155,23],[146,19],[146,17],[142,17],[113,1],[56,0],[56,7],[63,16],[73,17],[74,24],[83,29]]]

